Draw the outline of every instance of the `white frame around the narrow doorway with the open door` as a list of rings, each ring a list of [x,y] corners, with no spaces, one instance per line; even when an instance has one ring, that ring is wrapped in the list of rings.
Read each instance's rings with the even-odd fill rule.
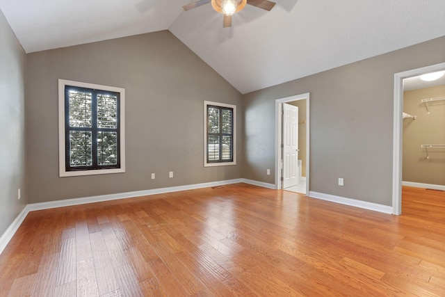
[[[293,102],[302,99],[306,99],[306,195],[309,195],[309,93],[275,99],[275,188],[277,190],[282,189],[282,103]]]

